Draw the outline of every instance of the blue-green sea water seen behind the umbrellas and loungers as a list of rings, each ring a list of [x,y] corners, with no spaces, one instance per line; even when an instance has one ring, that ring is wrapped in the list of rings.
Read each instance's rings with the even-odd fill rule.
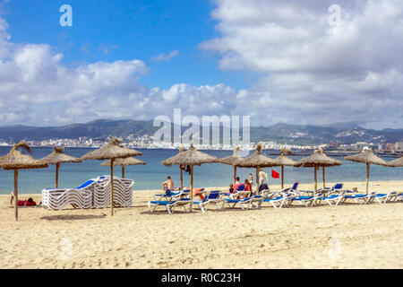
[[[76,157],[92,151],[91,148],[65,148],[64,152]],[[174,156],[176,150],[156,150],[156,149],[137,149],[142,152],[137,158],[145,161],[146,165],[136,165],[125,167],[125,178],[134,180],[134,190],[144,189],[162,189],[162,182],[171,176],[175,186],[180,186],[180,170],[178,166],[165,167],[161,161]],[[10,147],[0,146],[0,156],[7,154]],[[32,155],[36,159],[45,157],[52,152],[50,147],[32,147]],[[232,151],[203,151],[218,158],[231,155]],[[279,151],[275,151],[279,152]],[[262,151],[265,153],[275,153],[274,151]],[[275,158],[277,156],[270,155]],[[304,156],[289,156],[294,161],[301,160]],[[345,161],[342,157],[338,160],[343,165],[325,169],[327,182],[347,182],[347,181],[365,181],[366,165],[353,161]],[[390,161],[390,158],[384,158]],[[103,161],[81,161],[79,163],[62,163],[59,169],[59,187],[78,187],[87,179],[96,178],[101,175],[110,174],[110,167],[101,167]],[[270,178],[270,185],[279,185],[280,178],[271,178],[271,169],[281,172],[280,167],[263,169]],[[121,167],[114,168],[115,176],[121,177]],[[47,169],[38,170],[19,170],[19,193],[20,194],[38,194],[43,188],[55,187],[56,166],[49,165]],[[244,181],[249,177],[249,173],[255,177],[255,169],[237,169],[237,176]],[[193,187],[228,187],[233,180],[234,169],[232,166],[220,163],[207,163],[194,167]],[[301,183],[313,183],[313,168],[293,168],[285,167],[285,184],[291,185],[295,180]],[[403,168],[389,168],[377,165],[371,165],[370,180],[403,180]],[[322,169],[318,171],[318,182],[322,181]],[[190,175],[184,172],[184,187],[190,187]],[[319,183],[318,187],[322,187]],[[364,187],[358,187],[364,189]],[[403,189],[403,187],[402,187]],[[13,191],[13,170],[0,170],[0,194],[10,194]]]

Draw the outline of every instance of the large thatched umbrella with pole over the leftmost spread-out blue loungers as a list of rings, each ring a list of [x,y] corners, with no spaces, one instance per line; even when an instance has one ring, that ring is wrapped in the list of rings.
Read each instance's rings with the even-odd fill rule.
[[[219,159],[205,152],[197,151],[193,147],[193,143],[187,151],[178,152],[176,156],[173,156],[166,161],[161,161],[165,166],[171,166],[173,164],[178,165],[190,165],[191,166],[191,206],[190,211],[192,212],[193,206],[193,167],[195,165],[201,165],[202,163],[212,163],[219,162]]]

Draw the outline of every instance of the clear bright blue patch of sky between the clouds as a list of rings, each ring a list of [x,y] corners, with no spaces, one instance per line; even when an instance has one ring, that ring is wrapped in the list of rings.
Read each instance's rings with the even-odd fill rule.
[[[73,8],[73,27],[62,27],[59,7]],[[47,43],[63,53],[65,65],[140,59],[149,67],[140,83],[169,88],[224,83],[248,86],[252,72],[221,71],[213,53],[199,44],[219,36],[208,0],[10,1],[4,13],[15,43]],[[153,61],[178,51],[169,61]]]

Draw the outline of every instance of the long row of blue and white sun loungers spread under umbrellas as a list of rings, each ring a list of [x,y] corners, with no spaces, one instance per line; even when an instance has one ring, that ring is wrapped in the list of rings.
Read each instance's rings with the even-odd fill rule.
[[[385,204],[392,201],[403,200],[403,193],[391,192],[389,194],[358,194],[351,190],[343,189],[342,184],[337,184],[331,188],[322,188],[318,193],[312,191],[298,190],[298,182],[292,187],[281,190],[262,190],[260,196],[244,196],[244,191],[238,190],[233,194],[211,191],[201,201],[193,201],[193,204],[201,209],[202,213],[207,212],[209,205],[214,204],[218,211],[222,211],[225,206],[230,208],[240,207],[242,210],[251,208],[261,208],[263,204],[269,204],[275,208],[283,208],[292,204],[300,204],[305,207],[317,206],[322,203],[329,205],[345,204],[347,200],[352,200],[357,204],[372,204],[376,201],[379,204]],[[249,193],[249,192],[247,192]],[[191,199],[187,191],[176,192],[178,196],[169,197],[170,200],[150,201],[148,207],[150,213],[153,213],[159,206],[164,206],[169,214],[174,213],[176,206],[184,208],[184,211],[190,211]],[[162,195],[156,195],[161,196]],[[187,207],[187,208],[186,208]]]

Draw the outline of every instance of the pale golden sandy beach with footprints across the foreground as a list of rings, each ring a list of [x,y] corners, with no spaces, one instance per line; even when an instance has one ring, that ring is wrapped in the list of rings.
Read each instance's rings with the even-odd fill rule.
[[[363,185],[345,183],[360,191]],[[402,189],[403,181],[370,186],[375,192]],[[109,209],[21,207],[19,222],[9,196],[0,196],[0,268],[403,267],[401,202],[282,209],[264,204],[260,210],[211,207],[168,215],[164,209],[148,212],[155,193],[160,191],[135,190],[133,206],[113,217]],[[40,202],[40,195],[20,199],[30,196]]]

